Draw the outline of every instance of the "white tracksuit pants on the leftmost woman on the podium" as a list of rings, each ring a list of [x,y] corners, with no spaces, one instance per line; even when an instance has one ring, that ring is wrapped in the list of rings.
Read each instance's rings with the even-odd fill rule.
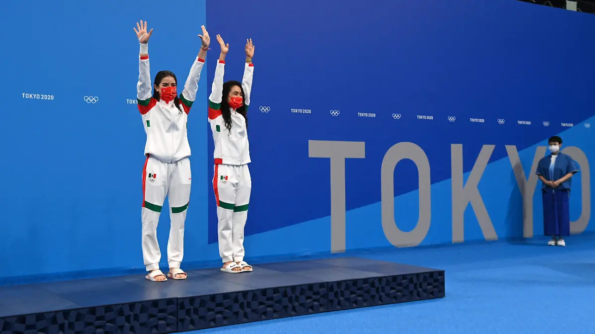
[[[161,207],[168,196],[170,202],[170,239],[167,261],[170,268],[179,268],[184,257],[184,221],[190,201],[192,173],[190,160],[165,163],[147,157],[143,168],[142,246],[147,271],[159,269],[161,251],[157,242],[157,224]]]

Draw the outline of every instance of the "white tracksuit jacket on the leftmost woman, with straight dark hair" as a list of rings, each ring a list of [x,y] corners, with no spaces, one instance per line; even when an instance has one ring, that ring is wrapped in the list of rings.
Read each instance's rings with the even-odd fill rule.
[[[190,156],[190,144],[187,136],[187,121],[192,103],[196,99],[198,81],[205,60],[196,58],[190,74],[180,94],[180,106],[173,101],[165,103],[152,98],[149,56],[139,59],[139,83],[137,84],[137,103],[142,115],[147,140],[145,155],[155,157],[161,162],[173,163]]]

